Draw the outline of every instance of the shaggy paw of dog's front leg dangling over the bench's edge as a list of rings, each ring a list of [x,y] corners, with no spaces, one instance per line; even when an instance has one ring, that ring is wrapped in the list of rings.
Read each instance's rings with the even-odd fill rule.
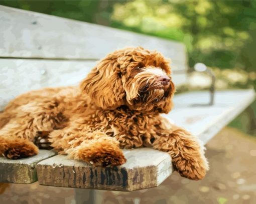
[[[191,180],[201,180],[204,178],[206,171],[209,169],[208,162],[203,156],[200,159],[191,160],[177,160],[173,162],[174,169],[180,173],[181,176]]]

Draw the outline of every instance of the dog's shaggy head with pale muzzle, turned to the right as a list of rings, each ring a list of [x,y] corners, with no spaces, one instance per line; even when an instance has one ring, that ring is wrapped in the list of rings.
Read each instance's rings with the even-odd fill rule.
[[[103,109],[126,105],[132,110],[167,113],[175,92],[169,60],[141,47],[117,50],[102,59],[81,83]]]

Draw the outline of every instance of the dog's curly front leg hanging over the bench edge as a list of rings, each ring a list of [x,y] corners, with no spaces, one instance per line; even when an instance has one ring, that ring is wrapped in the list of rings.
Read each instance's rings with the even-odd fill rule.
[[[173,126],[170,130],[163,130],[154,141],[153,147],[168,152],[174,169],[183,177],[202,179],[209,169],[203,145],[197,137],[182,128]]]

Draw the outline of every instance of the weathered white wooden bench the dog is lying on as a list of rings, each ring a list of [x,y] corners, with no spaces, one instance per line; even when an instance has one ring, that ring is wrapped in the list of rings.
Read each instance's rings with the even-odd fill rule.
[[[0,109],[15,96],[46,86],[75,85],[96,61],[125,46],[157,49],[172,59],[176,86],[186,82],[187,57],[183,44],[99,25],[0,6]],[[174,97],[175,108],[165,115],[204,143],[254,100],[253,90],[217,91],[212,106],[209,92]],[[155,187],[172,173],[170,156],[151,148],[123,150],[127,162],[114,168],[40,150],[34,157],[0,157],[0,182],[132,191]],[[143,162],[142,162],[143,161]],[[76,190],[77,202],[93,201],[92,191]]]

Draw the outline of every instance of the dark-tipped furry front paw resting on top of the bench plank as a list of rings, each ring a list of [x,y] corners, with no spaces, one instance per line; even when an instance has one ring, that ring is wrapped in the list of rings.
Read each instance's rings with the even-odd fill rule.
[[[126,162],[119,148],[119,142],[105,136],[82,145],[74,154],[75,159],[86,161],[94,166],[117,166]]]

